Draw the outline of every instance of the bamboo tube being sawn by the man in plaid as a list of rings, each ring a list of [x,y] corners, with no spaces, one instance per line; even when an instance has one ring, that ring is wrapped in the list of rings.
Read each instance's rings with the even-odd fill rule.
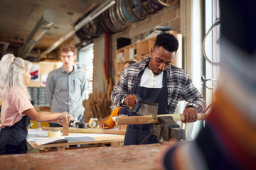
[[[208,114],[198,113],[198,120],[206,120]],[[166,115],[157,115],[159,117],[171,116],[174,118],[174,121],[183,121],[185,120],[183,114],[166,114]],[[116,125],[138,125],[138,124],[148,124],[148,123],[158,123],[158,120],[154,120],[151,115],[142,115],[142,116],[129,116],[129,117],[117,117],[115,120]]]

